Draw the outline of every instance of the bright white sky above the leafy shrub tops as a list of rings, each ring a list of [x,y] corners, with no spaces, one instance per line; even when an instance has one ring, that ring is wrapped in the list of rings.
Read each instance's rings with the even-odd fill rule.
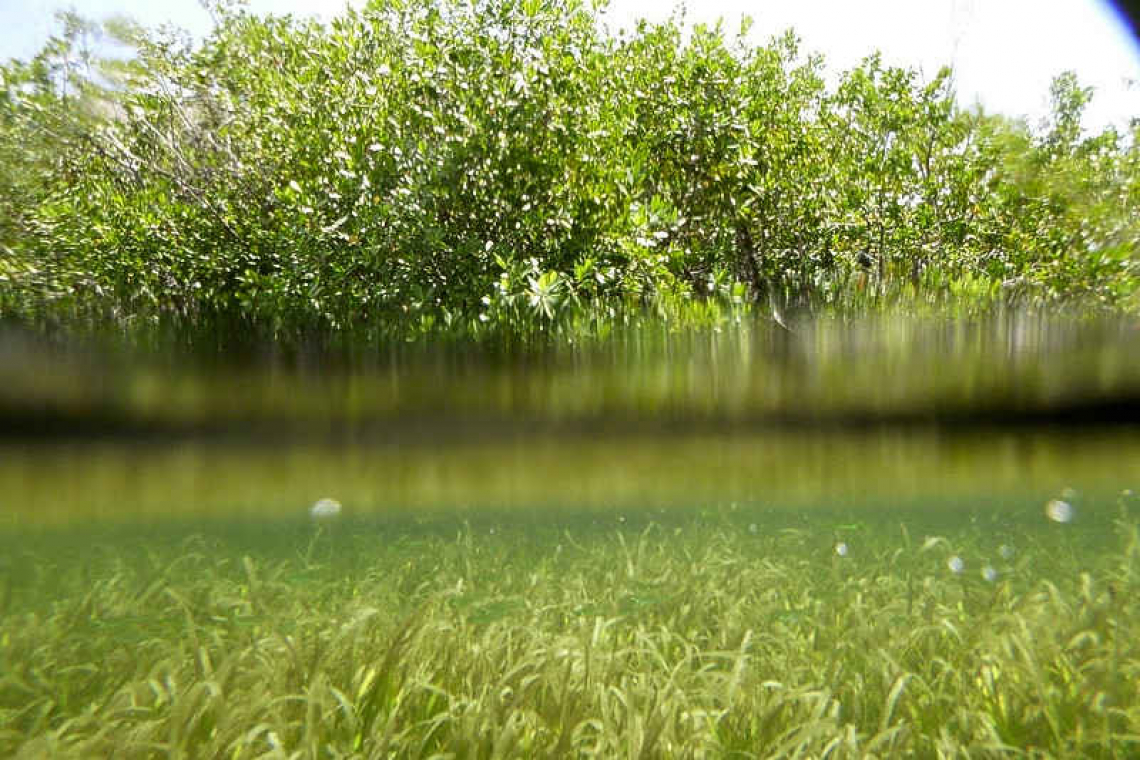
[[[343,0],[252,0],[259,13],[328,17]],[[1049,82],[1074,70],[1096,88],[1085,124],[1119,126],[1140,116],[1140,49],[1105,0],[690,0],[686,18],[725,19],[734,34],[742,14],[754,19],[752,39],[766,41],[793,27],[805,51],[824,54],[832,73],[871,51],[886,63],[927,75],[952,64],[959,99],[988,111],[1026,116],[1048,112]],[[103,17],[127,14],[146,25],[172,22],[202,34],[210,19],[196,0],[0,0],[0,58],[32,55],[51,31],[56,8]],[[673,0],[611,0],[606,18],[627,26],[634,18],[663,19]]]

